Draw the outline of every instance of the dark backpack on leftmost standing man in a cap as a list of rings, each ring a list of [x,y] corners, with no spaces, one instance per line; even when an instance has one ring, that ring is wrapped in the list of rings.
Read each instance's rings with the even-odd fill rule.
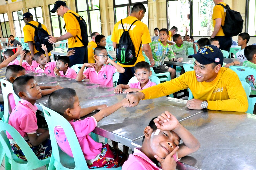
[[[32,26],[33,28],[35,28],[35,36],[34,36],[34,45],[35,45],[35,49],[43,54],[45,54],[45,51],[41,48],[41,44],[45,45],[47,48],[48,53],[53,50],[53,45],[51,43],[48,42],[49,39],[49,34],[47,31],[45,31],[42,28],[42,24],[38,22],[38,27],[36,27],[33,24],[27,23],[27,25]]]

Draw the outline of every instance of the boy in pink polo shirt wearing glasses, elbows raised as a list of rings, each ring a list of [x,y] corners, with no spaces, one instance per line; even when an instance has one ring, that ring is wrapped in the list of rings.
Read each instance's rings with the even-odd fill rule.
[[[106,48],[102,46],[98,46],[94,49],[94,59],[96,63],[83,64],[77,74],[76,80],[81,81],[83,79],[89,79],[91,83],[113,87],[113,74],[116,72],[124,73],[125,69],[111,60],[107,55]],[[109,63],[112,66],[108,65]],[[85,67],[90,68],[84,71]]]

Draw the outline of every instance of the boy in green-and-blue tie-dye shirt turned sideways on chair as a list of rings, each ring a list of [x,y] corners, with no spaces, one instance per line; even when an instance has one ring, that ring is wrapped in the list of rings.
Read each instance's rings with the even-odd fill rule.
[[[165,66],[164,59],[167,57],[170,61],[178,61],[181,62],[183,58],[174,58],[173,49],[171,46],[166,42],[167,39],[170,37],[169,31],[166,28],[159,30],[159,41],[153,41],[149,43],[152,56],[155,61],[155,65],[153,69],[155,73],[165,73],[169,72],[171,74],[171,79],[175,78],[176,70]]]

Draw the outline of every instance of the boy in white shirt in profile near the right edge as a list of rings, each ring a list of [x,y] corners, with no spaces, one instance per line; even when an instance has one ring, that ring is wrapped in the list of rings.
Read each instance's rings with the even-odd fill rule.
[[[249,40],[250,40],[250,35],[247,32],[243,32],[238,35],[237,43],[239,46],[241,46],[241,50],[239,50],[235,54],[235,56],[236,56],[236,58],[238,58],[241,61],[246,60],[243,52],[245,51],[245,47],[247,46],[247,43],[249,42]]]

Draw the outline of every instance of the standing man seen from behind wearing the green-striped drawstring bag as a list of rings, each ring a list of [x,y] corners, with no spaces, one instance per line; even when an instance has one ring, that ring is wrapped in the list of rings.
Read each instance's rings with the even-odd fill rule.
[[[130,25],[136,21],[131,29],[129,30],[129,35],[131,38],[131,41],[133,42],[134,48],[135,48],[135,54],[138,58],[134,65],[122,65],[121,63],[117,62],[119,65],[121,65],[125,69],[125,73],[119,74],[119,79],[117,84],[128,84],[129,80],[134,76],[134,66],[136,63],[140,61],[145,61],[145,58],[142,55],[142,50],[139,50],[140,44],[142,43],[144,52],[146,56],[149,58],[151,67],[154,66],[155,62],[152,57],[152,52],[149,43],[151,43],[150,33],[149,29],[146,24],[142,23],[141,20],[144,17],[146,12],[146,8],[142,3],[136,3],[134,4],[131,15],[128,16],[125,19],[122,19],[123,27],[127,31],[130,27]],[[113,47],[117,48],[117,44],[119,43],[119,39],[123,33],[123,27],[121,24],[121,21],[117,22],[114,26],[114,30],[111,36],[111,41],[113,41]]]

